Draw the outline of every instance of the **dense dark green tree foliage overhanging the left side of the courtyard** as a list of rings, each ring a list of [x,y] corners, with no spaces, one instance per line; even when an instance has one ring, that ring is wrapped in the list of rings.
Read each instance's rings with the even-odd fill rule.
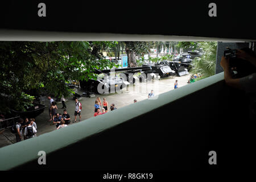
[[[0,42],[0,113],[26,110],[33,90],[68,96],[68,80],[96,78],[94,68],[114,67],[101,50],[116,42]]]

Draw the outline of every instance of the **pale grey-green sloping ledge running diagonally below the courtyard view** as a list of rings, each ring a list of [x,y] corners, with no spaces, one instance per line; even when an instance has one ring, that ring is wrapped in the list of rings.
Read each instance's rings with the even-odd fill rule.
[[[37,160],[39,151],[43,150],[46,154],[49,154],[60,148],[65,148],[89,136],[101,133],[104,130],[167,105],[170,102],[188,96],[189,94],[222,80],[224,80],[223,72],[204,78],[193,84],[188,84],[181,88],[160,94],[156,100],[143,100],[135,104],[121,107],[118,110],[113,110],[110,113],[86,119],[85,121],[65,127],[61,130],[55,130],[50,133],[42,134],[39,137],[2,147],[0,148],[0,170],[11,169],[32,160]]]

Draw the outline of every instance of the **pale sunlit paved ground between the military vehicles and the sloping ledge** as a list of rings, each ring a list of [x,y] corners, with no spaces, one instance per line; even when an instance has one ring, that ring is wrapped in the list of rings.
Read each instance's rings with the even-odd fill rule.
[[[101,101],[103,101],[103,98],[105,97],[106,101],[108,101],[109,108],[110,104],[115,104],[115,107],[117,108],[125,107],[127,105],[133,104],[134,99],[136,99],[138,102],[147,99],[147,95],[150,93],[151,89],[154,90],[155,96],[174,89],[175,80],[178,80],[179,87],[187,85],[187,81],[190,77],[191,75],[184,75],[181,77],[166,77],[160,79],[159,81],[138,82],[135,86],[130,85],[128,90],[127,88],[123,88],[122,93],[101,94],[96,95],[96,97],[100,97]],[[82,91],[78,90],[78,93],[81,94]],[[79,101],[82,103],[82,122],[86,122],[85,119],[93,117],[96,97],[81,97],[79,99]],[[73,125],[75,124],[72,122],[75,119],[75,101],[72,100],[72,96],[67,99],[68,101],[65,102],[65,104],[67,106],[69,115],[71,115],[71,125]],[[38,126],[37,136],[56,130],[56,126],[51,125],[51,123],[48,121],[48,100],[45,102],[45,105],[46,109],[44,112],[35,118],[35,122]],[[63,114],[63,109],[60,109],[62,107],[61,102],[57,104],[57,107],[57,113]],[[77,121],[79,121],[79,117]],[[15,134],[10,133],[9,130],[0,131],[0,147],[7,146],[15,142]]]

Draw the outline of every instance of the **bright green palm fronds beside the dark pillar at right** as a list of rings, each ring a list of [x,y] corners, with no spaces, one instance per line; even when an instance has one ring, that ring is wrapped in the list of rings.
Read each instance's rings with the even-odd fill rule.
[[[213,76],[216,69],[217,42],[203,42],[200,47],[204,54],[193,60],[191,73],[201,73],[203,77]]]

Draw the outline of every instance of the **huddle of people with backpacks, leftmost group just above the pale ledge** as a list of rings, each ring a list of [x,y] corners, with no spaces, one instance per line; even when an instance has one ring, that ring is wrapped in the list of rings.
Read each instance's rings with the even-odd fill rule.
[[[36,123],[34,118],[25,119],[19,118],[18,122],[15,123],[15,135],[16,135],[16,142],[20,142],[23,140],[36,137]]]

